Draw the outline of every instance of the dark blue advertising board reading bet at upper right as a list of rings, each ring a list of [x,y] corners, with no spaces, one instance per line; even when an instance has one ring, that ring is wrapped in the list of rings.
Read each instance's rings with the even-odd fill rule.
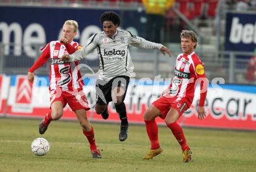
[[[256,47],[256,14],[227,13],[225,50],[254,52]]]

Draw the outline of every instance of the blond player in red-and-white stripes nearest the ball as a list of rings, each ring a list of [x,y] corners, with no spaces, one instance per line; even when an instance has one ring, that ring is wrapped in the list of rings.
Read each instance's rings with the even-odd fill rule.
[[[94,138],[93,126],[87,119],[86,111],[88,102],[83,92],[83,80],[79,71],[79,62],[64,62],[60,60],[64,54],[72,54],[81,48],[79,43],[74,42],[74,36],[77,34],[78,24],[74,20],[67,20],[62,27],[62,39],[67,39],[70,43],[68,49],[61,41],[51,41],[42,48],[42,54],[34,65],[29,69],[27,77],[31,83],[34,82],[34,71],[51,60],[49,74],[49,92],[51,100],[51,111],[44,117],[39,125],[39,133],[44,134],[51,120],[57,120],[63,115],[63,108],[69,104],[74,111],[83,129],[84,135],[90,143],[93,158],[101,158],[101,153],[97,149]],[[74,69],[72,70],[72,67]],[[73,71],[73,72],[72,72]]]

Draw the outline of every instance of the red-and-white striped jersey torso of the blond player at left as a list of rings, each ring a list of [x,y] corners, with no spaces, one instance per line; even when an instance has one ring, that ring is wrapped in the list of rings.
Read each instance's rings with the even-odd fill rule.
[[[79,43],[72,41],[70,43],[76,49],[80,47]],[[47,46],[41,49],[42,56],[48,57],[51,60],[49,74],[49,90],[56,90],[61,87],[62,91],[78,91],[83,89],[83,80],[77,65],[79,61],[64,62],[60,58],[67,53],[65,45],[59,41],[51,41]],[[76,70],[74,70],[76,68]]]

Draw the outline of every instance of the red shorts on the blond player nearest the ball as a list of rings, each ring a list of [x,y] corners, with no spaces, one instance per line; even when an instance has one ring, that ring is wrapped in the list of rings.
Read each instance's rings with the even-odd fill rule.
[[[51,105],[55,101],[61,101],[63,104],[63,107],[66,106],[66,104],[69,104],[69,107],[72,109],[72,111],[76,111],[79,109],[86,109],[86,111],[90,110],[90,107],[88,105],[88,101],[86,98],[86,94],[84,94],[83,90],[80,92],[65,92],[61,89],[57,90],[51,90],[50,91],[50,101]]]

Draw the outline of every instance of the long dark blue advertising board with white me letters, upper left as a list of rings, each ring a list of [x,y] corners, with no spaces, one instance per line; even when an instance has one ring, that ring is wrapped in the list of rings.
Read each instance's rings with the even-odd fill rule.
[[[106,9],[49,8],[0,6],[0,42],[14,43],[22,48],[5,47],[5,55],[34,57],[38,49],[33,44],[45,45],[60,38],[62,25],[66,20],[76,20],[79,31],[74,41],[84,43],[96,32],[102,31],[99,18]],[[144,12],[137,10],[115,10],[121,16],[120,27],[134,35],[144,36],[145,26],[141,23]],[[96,56],[91,60],[96,60]]]

